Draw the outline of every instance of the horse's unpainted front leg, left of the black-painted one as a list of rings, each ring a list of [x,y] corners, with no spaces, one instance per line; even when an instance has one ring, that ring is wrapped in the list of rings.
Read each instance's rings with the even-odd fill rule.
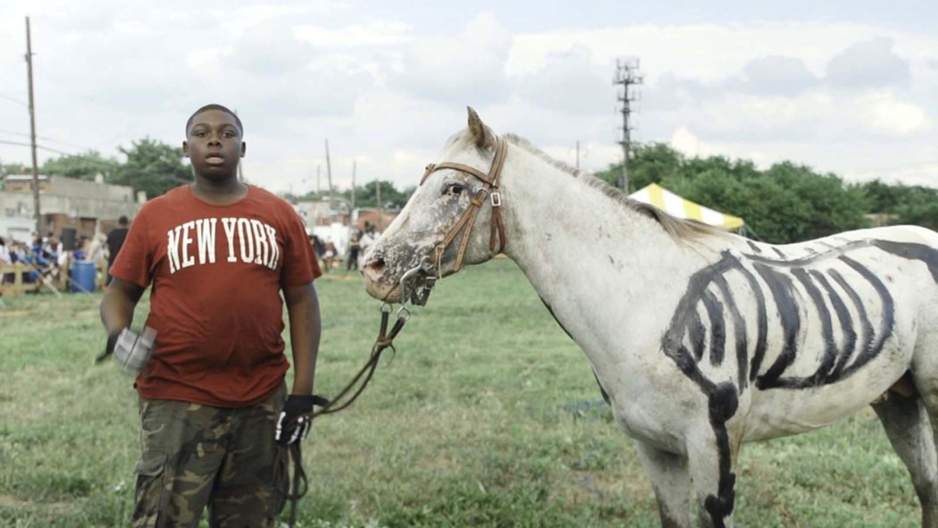
[[[690,528],[688,458],[635,442],[645,475],[658,499],[662,528]]]

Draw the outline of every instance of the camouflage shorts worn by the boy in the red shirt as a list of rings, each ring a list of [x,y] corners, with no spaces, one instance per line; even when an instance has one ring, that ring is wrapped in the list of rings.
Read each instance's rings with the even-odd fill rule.
[[[140,400],[134,528],[199,524],[267,527],[283,508],[286,482],[274,482],[274,428],[286,388],[263,403],[219,409]]]

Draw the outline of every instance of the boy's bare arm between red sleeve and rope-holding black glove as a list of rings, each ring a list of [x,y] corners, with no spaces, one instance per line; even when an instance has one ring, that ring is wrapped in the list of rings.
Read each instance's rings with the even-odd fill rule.
[[[285,286],[283,298],[290,317],[290,344],[293,348],[294,385],[291,394],[309,396],[316,375],[316,356],[319,355],[322,332],[319,298],[311,282]]]

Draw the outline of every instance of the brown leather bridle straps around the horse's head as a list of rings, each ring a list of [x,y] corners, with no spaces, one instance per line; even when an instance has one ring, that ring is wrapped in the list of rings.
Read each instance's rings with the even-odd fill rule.
[[[494,136],[494,138],[495,158],[492,159],[492,167],[489,169],[488,174],[482,173],[475,167],[470,167],[469,165],[446,161],[439,165],[433,163],[427,165],[427,170],[423,173],[423,177],[420,178],[420,185],[423,185],[423,182],[427,181],[431,173],[442,171],[443,169],[452,169],[454,171],[460,171],[461,173],[471,174],[483,183],[481,189],[476,191],[472,203],[469,205],[469,208],[466,209],[466,212],[462,214],[461,219],[456,222],[456,225],[453,226],[449,234],[446,234],[446,238],[443,239],[443,242],[440,242],[433,248],[432,262],[436,263],[437,267],[439,267],[443,252],[446,251],[446,248],[452,244],[453,240],[456,239],[461,231],[463,229],[465,230],[465,234],[462,235],[462,240],[460,241],[459,251],[456,253],[456,265],[453,268],[453,273],[459,271],[462,267],[462,258],[465,255],[466,247],[469,245],[469,234],[472,232],[473,225],[476,223],[476,215],[479,209],[482,208],[482,203],[485,202],[485,196],[487,194],[492,203],[492,233],[489,238],[489,249],[495,251],[496,238],[498,240],[498,250],[495,251],[494,254],[497,255],[505,249],[505,225],[502,223],[502,195],[498,192],[498,178],[502,175],[502,166],[505,165],[508,144],[498,136]]]

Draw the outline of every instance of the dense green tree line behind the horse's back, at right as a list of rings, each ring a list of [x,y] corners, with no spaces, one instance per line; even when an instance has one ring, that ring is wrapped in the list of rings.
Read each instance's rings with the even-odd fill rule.
[[[597,176],[614,184],[622,165]],[[688,200],[741,217],[750,235],[789,244],[883,223],[938,230],[938,189],[848,183],[791,161],[759,170],[747,159],[688,158],[665,143],[638,145],[628,164],[629,187],[657,183]],[[871,219],[870,216],[876,216]]]

